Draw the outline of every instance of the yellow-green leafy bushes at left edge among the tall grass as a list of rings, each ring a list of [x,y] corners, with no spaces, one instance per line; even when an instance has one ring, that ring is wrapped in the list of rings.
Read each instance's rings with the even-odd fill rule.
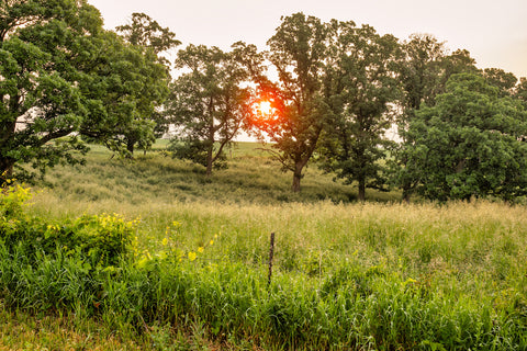
[[[30,190],[14,185],[0,196],[0,242],[31,261],[60,254],[81,258],[89,267],[116,265],[131,252],[136,222],[119,215],[83,215],[61,224],[27,215]]]

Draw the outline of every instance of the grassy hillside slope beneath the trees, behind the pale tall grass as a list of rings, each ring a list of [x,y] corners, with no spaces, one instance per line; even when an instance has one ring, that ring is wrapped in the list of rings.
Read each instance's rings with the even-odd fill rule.
[[[302,192],[290,191],[292,176],[280,170],[256,143],[238,143],[228,152],[228,168],[215,170],[208,178],[203,167],[172,159],[159,140],[154,151],[138,152],[133,160],[112,158],[112,154],[93,146],[85,167],[57,167],[51,170],[40,189],[49,188],[54,196],[67,202],[203,202],[242,204],[280,204],[288,202],[352,202],[355,186],[334,182],[316,166],[307,168]],[[368,192],[371,201],[396,201],[396,192]]]

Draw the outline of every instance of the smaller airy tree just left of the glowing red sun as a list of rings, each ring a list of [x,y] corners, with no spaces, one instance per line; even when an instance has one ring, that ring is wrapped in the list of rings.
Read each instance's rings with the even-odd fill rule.
[[[203,165],[211,176],[251,107],[250,90],[242,87],[247,72],[232,53],[203,45],[179,50],[176,66],[190,72],[171,87],[169,113],[179,132],[171,149],[178,158]]]

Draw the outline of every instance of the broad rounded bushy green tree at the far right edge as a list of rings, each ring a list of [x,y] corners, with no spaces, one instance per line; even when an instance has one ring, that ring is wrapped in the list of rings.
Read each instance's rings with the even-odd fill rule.
[[[428,199],[513,200],[527,193],[527,112],[476,75],[452,76],[411,122],[407,171]],[[417,176],[418,174],[418,176]]]

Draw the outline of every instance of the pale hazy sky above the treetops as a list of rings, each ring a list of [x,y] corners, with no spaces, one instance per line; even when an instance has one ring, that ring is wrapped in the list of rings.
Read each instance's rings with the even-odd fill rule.
[[[370,24],[405,39],[434,34],[451,49],[464,48],[480,68],[497,67],[527,77],[527,0],[88,0],[106,29],[144,12],[168,26],[183,45],[229,49],[237,41],[266,48],[280,16],[295,12],[323,21]]]

